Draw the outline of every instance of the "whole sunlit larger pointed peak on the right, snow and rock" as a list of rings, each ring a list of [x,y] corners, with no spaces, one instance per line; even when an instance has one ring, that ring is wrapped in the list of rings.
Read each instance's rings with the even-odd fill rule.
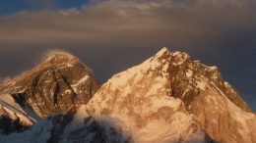
[[[217,68],[166,48],[109,79],[88,112],[135,142],[204,142],[206,134],[221,143],[256,141],[255,115]]]

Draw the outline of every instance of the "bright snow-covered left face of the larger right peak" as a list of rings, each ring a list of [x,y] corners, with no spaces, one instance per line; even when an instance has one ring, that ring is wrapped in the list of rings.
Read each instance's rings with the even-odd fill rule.
[[[204,142],[207,134],[198,120],[188,114],[182,99],[172,96],[172,57],[164,48],[141,65],[115,74],[87,105],[90,115],[112,120],[134,142],[190,141],[193,136]]]

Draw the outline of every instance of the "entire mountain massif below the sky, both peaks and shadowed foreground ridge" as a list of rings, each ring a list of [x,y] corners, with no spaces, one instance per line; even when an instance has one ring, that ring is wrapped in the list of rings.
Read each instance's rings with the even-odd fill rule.
[[[55,53],[0,94],[3,143],[256,142],[255,114],[218,68],[167,48],[102,85]]]

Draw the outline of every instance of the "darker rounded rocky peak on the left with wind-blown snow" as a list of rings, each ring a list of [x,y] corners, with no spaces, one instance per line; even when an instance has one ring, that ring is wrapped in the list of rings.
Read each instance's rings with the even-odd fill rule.
[[[77,58],[54,53],[32,71],[0,85],[0,114],[12,121],[22,119],[24,125],[32,124],[86,104],[98,88],[93,73]]]

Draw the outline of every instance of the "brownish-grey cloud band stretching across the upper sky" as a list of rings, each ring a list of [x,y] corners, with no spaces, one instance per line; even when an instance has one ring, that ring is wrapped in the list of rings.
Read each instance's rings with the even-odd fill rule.
[[[227,42],[226,37],[236,40],[255,34],[254,8],[253,1],[242,0],[92,1],[80,9],[46,9],[1,18],[0,43],[13,47],[219,46]]]

